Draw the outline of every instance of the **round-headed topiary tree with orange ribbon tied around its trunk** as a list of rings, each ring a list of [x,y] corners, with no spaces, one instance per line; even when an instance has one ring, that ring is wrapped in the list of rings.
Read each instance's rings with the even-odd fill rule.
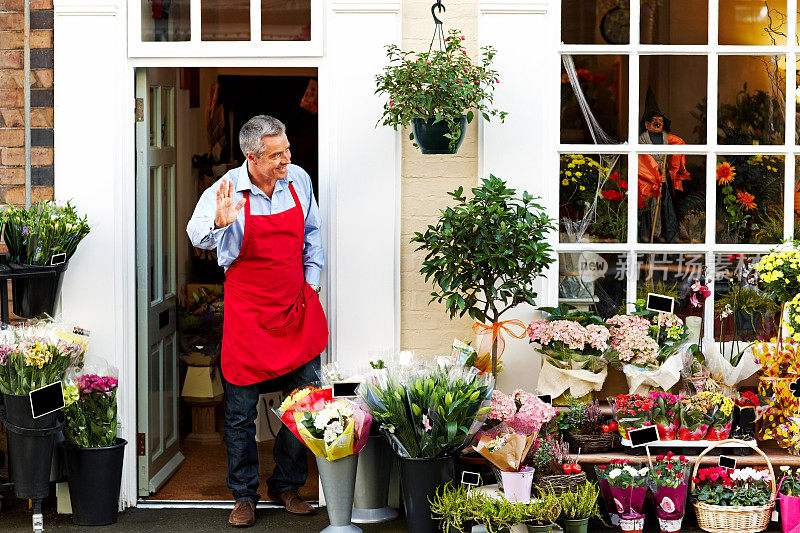
[[[493,175],[472,189],[472,198],[467,199],[463,187],[448,194],[458,204],[443,209],[439,221],[411,242],[426,253],[420,273],[426,281],[433,279],[431,302],[444,302],[451,318],[469,315],[477,321],[473,331],[491,341],[496,375],[503,331],[519,339],[525,335],[521,321],[501,322],[500,317],[519,304],[534,304],[533,283],[555,261],[546,242],[555,227],[533,196],[524,192],[518,198]],[[511,332],[510,325],[522,332]],[[488,342],[481,343],[478,356],[485,351]]]

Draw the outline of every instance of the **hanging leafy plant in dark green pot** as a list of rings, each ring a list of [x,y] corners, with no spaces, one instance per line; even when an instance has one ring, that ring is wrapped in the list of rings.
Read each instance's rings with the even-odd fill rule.
[[[499,81],[490,68],[495,50],[483,47],[481,64],[473,64],[464,49],[465,37],[450,30],[440,50],[415,53],[387,46],[389,65],[377,76],[376,93],[386,93],[379,123],[394,129],[412,126],[409,135],[423,154],[454,154],[464,139],[464,128],[475,111],[484,119],[505,111],[491,107]]]

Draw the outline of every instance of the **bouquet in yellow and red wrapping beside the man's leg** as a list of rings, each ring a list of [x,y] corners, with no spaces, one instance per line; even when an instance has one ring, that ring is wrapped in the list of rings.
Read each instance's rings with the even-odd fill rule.
[[[358,403],[333,398],[330,388],[296,390],[277,414],[314,455],[328,461],[360,452],[372,424],[372,416]]]

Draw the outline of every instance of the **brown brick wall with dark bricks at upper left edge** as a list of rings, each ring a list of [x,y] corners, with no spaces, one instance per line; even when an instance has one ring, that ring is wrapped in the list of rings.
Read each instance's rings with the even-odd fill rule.
[[[31,201],[53,198],[53,2],[30,0]],[[0,202],[25,204],[24,2],[0,1]]]

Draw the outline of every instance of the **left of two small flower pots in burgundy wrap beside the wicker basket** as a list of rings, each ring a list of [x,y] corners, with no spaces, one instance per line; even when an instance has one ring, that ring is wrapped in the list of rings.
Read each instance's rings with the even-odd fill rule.
[[[604,473],[608,482],[611,501],[606,507],[619,513],[620,529],[630,533],[642,533],[644,514],[642,506],[647,496],[648,467],[635,468],[627,460],[610,465]]]

